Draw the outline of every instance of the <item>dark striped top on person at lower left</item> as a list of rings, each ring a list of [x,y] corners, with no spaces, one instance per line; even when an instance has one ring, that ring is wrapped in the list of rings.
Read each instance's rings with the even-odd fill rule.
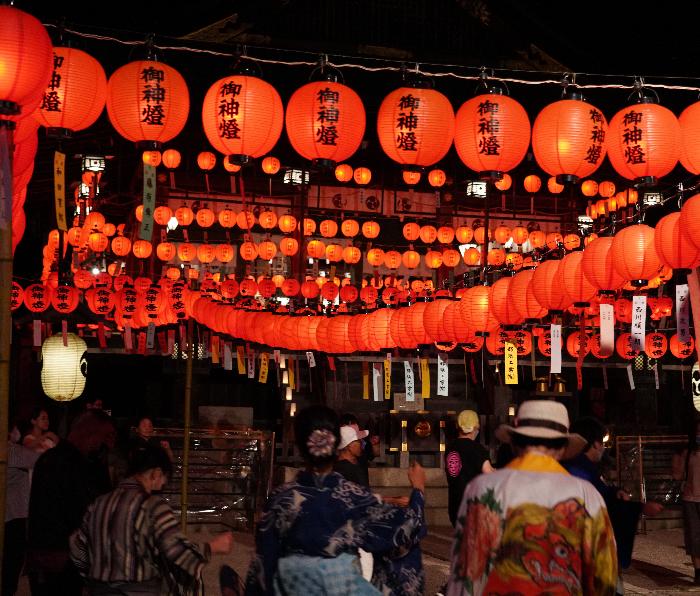
[[[187,540],[162,497],[127,478],[90,506],[71,536],[70,554],[88,580],[131,583],[165,576],[190,584],[197,593],[210,550],[209,545],[202,551]]]

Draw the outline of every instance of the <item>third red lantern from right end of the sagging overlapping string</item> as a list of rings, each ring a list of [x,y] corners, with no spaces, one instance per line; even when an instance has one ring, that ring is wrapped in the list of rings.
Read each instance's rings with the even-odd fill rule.
[[[646,285],[661,268],[654,247],[654,228],[645,224],[628,226],[615,234],[610,253],[617,273],[636,286]]]

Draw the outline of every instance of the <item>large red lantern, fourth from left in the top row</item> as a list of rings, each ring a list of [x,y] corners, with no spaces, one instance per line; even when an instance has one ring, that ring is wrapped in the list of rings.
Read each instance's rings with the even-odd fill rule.
[[[202,125],[211,145],[234,163],[269,153],[282,134],[284,110],[275,88],[262,79],[233,75],[207,91]]]

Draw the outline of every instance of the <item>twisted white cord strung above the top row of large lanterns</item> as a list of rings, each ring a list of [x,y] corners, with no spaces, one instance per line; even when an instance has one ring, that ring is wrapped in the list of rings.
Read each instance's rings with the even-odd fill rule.
[[[44,23],[45,27],[54,27],[57,28],[57,25],[54,25],[52,23]],[[68,28],[63,28],[62,31],[64,33],[70,33],[71,35],[75,35],[77,37],[84,37],[86,39],[94,39],[98,41],[106,41],[106,42],[113,42],[113,43],[119,43],[122,45],[127,45],[127,46],[140,46],[143,45],[143,40],[125,40],[125,39],[120,39],[118,37],[114,36],[109,36],[109,35],[98,35],[95,33],[87,33],[84,31],[78,31],[76,29],[68,29]],[[221,56],[224,58],[233,58],[235,56],[235,53],[232,52],[221,52],[217,50],[210,50],[210,49],[203,49],[203,48],[192,48],[188,46],[182,46],[182,45],[160,45],[160,44],[153,44],[153,47],[156,48],[157,50],[169,50],[169,51],[177,51],[177,52],[190,52],[192,54],[208,54],[210,56]],[[303,50],[294,50],[294,49],[283,49],[283,48],[258,48],[256,46],[248,46],[249,48],[252,47],[253,49],[259,50],[259,51],[265,51],[265,52],[278,52],[278,53],[284,53],[284,54],[303,54],[303,55],[309,55],[310,52],[306,52]],[[356,68],[359,70],[363,70],[366,72],[402,72],[405,70],[405,63],[398,61],[398,60],[390,60],[390,59],[385,59],[385,58],[371,58],[371,57],[359,57],[359,56],[346,56],[342,54],[335,54],[333,55],[336,59],[339,60],[354,60],[354,61],[364,61],[364,62],[381,62],[383,65],[382,66],[369,66],[367,64],[361,64],[359,62],[332,62],[328,59],[328,55],[324,54],[326,56],[327,60],[327,65],[331,66],[333,68],[345,68],[345,69],[350,69],[350,68]],[[261,58],[261,57],[254,57],[254,56],[247,56],[249,60],[255,61],[255,62],[260,62],[262,64],[281,64],[284,66],[317,66],[318,65],[318,59],[310,59],[310,60],[278,60],[278,59],[271,59],[271,58]],[[415,73],[420,74],[426,77],[450,77],[454,79],[459,79],[459,80],[465,80],[465,81],[480,81],[483,77],[482,71],[484,67],[473,67],[473,66],[464,66],[464,65],[459,65],[459,64],[443,64],[443,63],[422,63],[424,66],[428,66],[430,68],[444,68],[444,69],[460,69],[460,70],[466,70],[466,71],[474,71],[474,74],[460,74],[458,72],[453,72],[453,70],[448,70],[448,71],[437,71],[437,72],[431,72],[431,71],[426,71],[420,68],[421,65],[418,63],[415,64]],[[504,83],[515,83],[519,85],[557,85],[561,86],[562,84],[562,73],[561,72],[552,72],[552,71],[535,71],[535,70],[524,70],[524,69],[498,69],[498,71],[494,69],[491,70],[491,76],[493,78],[497,78],[499,81],[504,82]],[[497,76],[496,72],[498,73],[503,73],[507,74],[510,76]],[[545,78],[545,79],[525,79],[525,78],[515,78],[515,75],[518,73],[521,73],[523,76],[552,76],[552,78]],[[575,83],[576,87],[579,89],[635,89],[635,85],[638,84],[639,80],[642,80],[639,75],[629,75],[629,74],[600,74],[600,73],[584,73],[584,72],[577,72],[577,73],[565,73],[565,76],[569,76],[572,78],[572,81],[576,81],[577,77],[587,77],[587,78],[600,78],[600,79],[630,79],[630,83],[624,84],[624,83]],[[698,77],[672,77],[672,76],[655,76],[655,79],[658,79],[660,81],[698,81],[700,84],[700,78]],[[655,88],[655,89],[666,89],[666,90],[672,90],[672,91],[693,91],[695,93],[700,92],[700,86],[691,86],[691,85],[679,85],[679,84],[671,84],[669,83],[651,83],[651,82],[644,82],[644,86],[648,88]]]

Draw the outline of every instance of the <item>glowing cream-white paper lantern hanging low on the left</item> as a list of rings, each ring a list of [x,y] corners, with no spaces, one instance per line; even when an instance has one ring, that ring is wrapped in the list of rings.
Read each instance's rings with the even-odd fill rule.
[[[41,346],[41,386],[56,401],[71,401],[85,389],[87,344],[73,333],[67,334],[66,343],[64,346],[59,333]]]

